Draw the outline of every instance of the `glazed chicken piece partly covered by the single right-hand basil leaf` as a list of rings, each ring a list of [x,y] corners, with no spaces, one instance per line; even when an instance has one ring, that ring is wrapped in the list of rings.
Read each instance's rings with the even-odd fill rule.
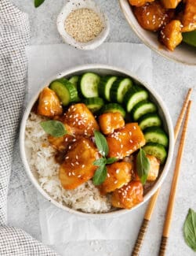
[[[158,171],[160,168],[160,161],[155,158],[153,155],[147,154],[147,158],[150,161],[150,170],[147,175],[147,181],[154,181],[158,177]],[[138,176],[138,173],[135,169],[135,174],[136,174],[136,180],[140,180],[140,177]]]

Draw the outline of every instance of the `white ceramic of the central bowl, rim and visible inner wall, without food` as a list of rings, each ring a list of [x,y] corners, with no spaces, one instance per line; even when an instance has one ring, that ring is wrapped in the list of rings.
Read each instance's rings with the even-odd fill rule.
[[[29,116],[29,113],[31,112],[32,106],[34,106],[34,102],[38,99],[39,93],[42,91],[42,89],[49,84],[51,81],[55,80],[56,78],[60,78],[62,76],[70,77],[74,75],[80,75],[83,72],[96,72],[100,75],[113,75],[113,76],[130,76],[133,80],[136,80],[137,82],[140,82],[143,84],[143,87],[146,87],[147,91],[149,92],[151,101],[153,101],[158,106],[158,113],[162,117],[163,125],[165,128],[165,131],[169,134],[169,151],[168,151],[168,157],[165,161],[165,165],[162,168],[162,173],[159,176],[158,180],[154,184],[154,186],[151,188],[150,191],[147,192],[146,195],[143,197],[143,202],[133,207],[131,210],[115,210],[114,212],[110,213],[82,213],[77,210],[72,210],[67,206],[61,205],[59,202],[56,202],[51,196],[43,190],[43,188],[40,186],[38,182],[38,173],[31,170],[28,162],[29,162],[29,156],[30,152],[25,148],[24,139],[25,139],[25,128],[26,128],[26,122],[27,118]],[[43,85],[44,84],[44,85]],[[31,98],[31,101],[28,103],[27,108],[24,112],[24,117],[22,119],[21,125],[20,125],[20,153],[22,161],[24,162],[24,167],[26,169],[27,175],[29,176],[31,182],[34,184],[34,186],[38,189],[38,191],[50,202],[52,202],[55,206],[60,207],[63,210],[67,210],[70,213],[77,213],[80,216],[85,217],[113,217],[118,216],[122,213],[130,212],[137,207],[140,207],[144,202],[146,202],[149,198],[151,198],[151,195],[154,194],[155,191],[157,191],[158,187],[161,186],[163,180],[165,180],[165,176],[167,175],[169,171],[169,166],[172,161],[172,154],[173,154],[173,146],[174,146],[174,139],[173,139],[173,127],[172,127],[172,121],[169,116],[169,111],[167,110],[165,103],[162,101],[162,98],[158,96],[158,94],[147,85],[147,83],[143,83],[136,75],[134,75],[132,72],[125,70],[125,69],[119,69],[115,68],[113,66],[109,65],[82,65],[78,66],[74,69],[69,69],[61,73],[60,76],[52,77],[46,83],[43,83],[40,87],[40,90],[34,95],[33,98]]]

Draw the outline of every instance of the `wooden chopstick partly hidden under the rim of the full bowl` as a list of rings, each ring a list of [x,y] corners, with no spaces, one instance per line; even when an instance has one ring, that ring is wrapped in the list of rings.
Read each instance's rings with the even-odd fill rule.
[[[183,117],[184,117],[184,114],[186,112],[189,99],[191,97],[191,92],[192,92],[192,88],[190,88],[187,92],[187,96],[186,96],[186,98],[183,102],[183,106],[182,106],[182,109],[180,111],[180,116],[178,117],[178,120],[176,122],[176,126],[174,128],[175,143],[176,143],[176,139],[178,137],[178,134],[180,132],[180,127],[181,127],[181,124],[183,122]],[[139,253],[140,253],[140,248],[142,246],[144,236],[147,232],[149,221],[151,221],[151,216],[152,216],[152,213],[154,212],[154,206],[156,205],[160,189],[161,189],[161,187],[159,187],[158,190],[154,193],[154,195],[151,197],[151,200],[150,200],[150,202],[147,206],[147,210],[146,210],[146,213],[143,217],[143,222],[141,224],[140,231],[138,233],[135,246],[133,247],[133,250],[132,250],[132,256],[138,256]]]

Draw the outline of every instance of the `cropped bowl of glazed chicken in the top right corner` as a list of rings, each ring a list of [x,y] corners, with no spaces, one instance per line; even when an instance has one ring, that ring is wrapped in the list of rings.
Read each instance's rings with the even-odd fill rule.
[[[151,50],[196,65],[195,0],[119,0],[132,30]]]

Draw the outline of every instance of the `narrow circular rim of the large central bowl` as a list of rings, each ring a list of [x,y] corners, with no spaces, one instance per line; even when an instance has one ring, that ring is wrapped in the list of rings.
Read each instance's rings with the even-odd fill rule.
[[[25,153],[25,145],[24,145],[25,144],[24,142],[25,142],[26,122],[27,122],[29,113],[31,112],[32,106],[34,105],[34,102],[37,100],[40,91],[42,91],[42,89],[44,87],[46,87],[46,84],[48,85],[54,79],[58,79],[62,76],[68,76],[69,74],[72,74],[74,72],[82,72],[82,71],[89,70],[89,69],[111,69],[111,71],[121,72],[125,76],[131,76],[134,80],[137,80],[140,83],[142,83],[143,86],[147,88],[147,91],[150,91],[151,95],[153,95],[154,98],[156,98],[158,105],[161,107],[162,112],[164,113],[164,116],[165,116],[165,121],[166,121],[167,128],[169,131],[169,152],[168,152],[167,160],[165,162],[164,169],[162,170],[161,176],[159,177],[157,182],[154,184],[154,186],[151,188],[151,190],[147,192],[147,195],[144,195],[143,202],[140,202],[138,205],[132,207],[132,209],[130,209],[130,210],[122,209],[122,210],[117,210],[117,211],[108,212],[108,213],[83,213],[78,210],[71,209],[68,206],[64,206],[64,205],[60,204],[60,202],[56,202],[55,199],[50,197],[49,194],[46,193],[46,191],[40,186],[40,184],[38,184],[38,181],[35,179],[33,173],[31,172],[31,168],[27,162],[27,157],[26,157],[26,153]],[[136,74],[129,71],[128,69],[122,69],[122,68],[115,67],[113,65],[102,65],[102,64],[78,65],[72,69],[67,69],[64,72],[60,72],[57,76],[51,77],[49,80],[46,81],[46,83],[43,83],[43,84],[39,87],[39,90],[36,93],[34,93],[34,96],[31,97],[31,100],[28,102],[28,104],[24,110],[24,114],[23,114],[23,117],[22,117],[22,120],[20,123],[20,137],[19,137],[20,156],[21,156],[21,159],[24,164],[24,169],[27,173],[27,176],[31,180],[31,183],[34,184],[34,187],[37,188],[39,193],[44,198],[46,198],[49,202],[52,202],[53,205],[57,206],[58,208],[60,208],[62,210],[66,210],[68,213],[74,213],[80,217],[93,217],[93,218],[117,217],[117,216],[122,215],[123,213],[130,213],[132,210],[136,210],[138,207],[142,206],[144,202],[147,202],[147,200],[149,198],[151,198],[152,195],[154,195],[154,193],[158,190],[158,188],[161,187],[163,181],[165,180],[165,177],[169,172],[169,166],[171,165],[171,162],[172,162],[172,155],[173,155],[173,149],[174,149],[174,134],[173,134],[172,120],[169,115],[169,110],[165,106],[165,102],[162,101],[162,98],[158,95],[158,93],[155,92],[153,88],[151,88],[147,83],[143,82],[143,80],[140,80],[140,78],[138,78],[138,76],[136,76]]]

